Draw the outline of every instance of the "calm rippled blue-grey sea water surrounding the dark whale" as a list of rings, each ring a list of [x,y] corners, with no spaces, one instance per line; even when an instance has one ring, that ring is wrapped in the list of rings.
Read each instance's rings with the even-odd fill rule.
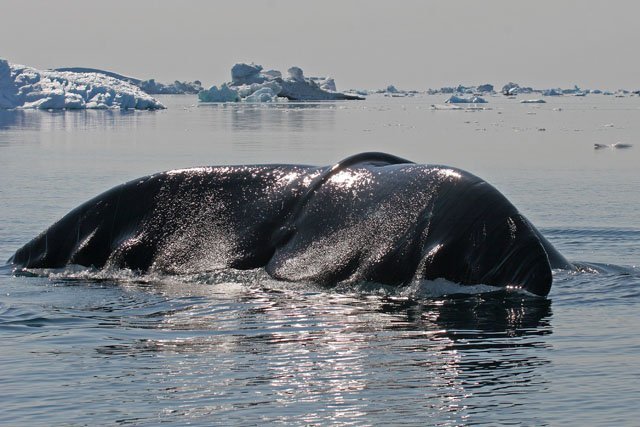
[[[142,175],[385,151],[483,177],[585,266],[548,298],[0,267],[0,425],[638,425],[640,98],[443,99],[0,111],[2,261]]]

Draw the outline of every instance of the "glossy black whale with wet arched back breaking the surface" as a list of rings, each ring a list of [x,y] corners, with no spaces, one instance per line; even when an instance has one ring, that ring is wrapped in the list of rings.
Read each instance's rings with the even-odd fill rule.
[[[264,268],[334,286],[446,279],[546,296],[572,265],[507,198],[454,167],[361,153],[330,166],[208,166],[116,186],[18,249],[15,269]]]

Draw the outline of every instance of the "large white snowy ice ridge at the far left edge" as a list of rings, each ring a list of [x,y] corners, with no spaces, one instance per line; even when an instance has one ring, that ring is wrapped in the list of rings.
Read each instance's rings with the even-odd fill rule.
[[[98,73],[37,70],[0,58],[0,109],[165,108],[130,83]]]

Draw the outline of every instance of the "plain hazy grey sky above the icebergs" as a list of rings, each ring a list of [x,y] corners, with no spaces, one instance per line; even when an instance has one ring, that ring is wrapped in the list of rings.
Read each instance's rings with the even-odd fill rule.
[[[338,89],[640,89],[639,12],[634,1],[0,0],[0,57],[206,85],[253,61],[330,75]]]

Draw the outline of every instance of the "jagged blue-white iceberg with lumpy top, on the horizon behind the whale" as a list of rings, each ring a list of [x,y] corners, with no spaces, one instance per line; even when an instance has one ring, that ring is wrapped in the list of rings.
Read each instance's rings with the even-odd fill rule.
[[[231,82],[218,88],[212,86],[198,93],[202,102],[278,102],[278,101],[335,101],[363,99],[359,95],[340,93],[331,77],[305,77],[300,67],[287,70],[282,77],[277,70],[264,71],[257,64],[235,64],[231,68]]]

